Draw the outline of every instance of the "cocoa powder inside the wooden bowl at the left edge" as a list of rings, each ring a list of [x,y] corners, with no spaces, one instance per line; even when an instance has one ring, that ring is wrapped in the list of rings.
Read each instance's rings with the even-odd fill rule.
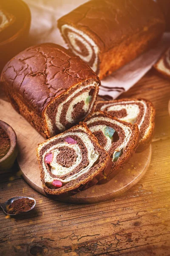
[[[11,146],[10,139],[6,131],[0,127],[0,159],[5,157]]]

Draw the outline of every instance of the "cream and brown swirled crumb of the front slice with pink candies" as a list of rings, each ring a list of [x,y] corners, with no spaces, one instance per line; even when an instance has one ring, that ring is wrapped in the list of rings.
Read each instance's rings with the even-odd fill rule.
[[[69,144],[65,140],[67,138],[73,139],[76,144]],[[86,141],[86,145],[83,140]],[[45,156],[49,153],[53,154],[53,160],[50,165],[45,163]],[[42,166],[45,170],[45,182],[52,182],[57,179],[62,183],[68,183],[71,180],[75,180],[77,177],[85,175],[98,158],[99,154],[95,152],[94,145],[88,134],[81,130],[74,133],[61,134],[57,139],[54,138],[51,139],[50,143],[47,142],[45,148],[43,148]]]

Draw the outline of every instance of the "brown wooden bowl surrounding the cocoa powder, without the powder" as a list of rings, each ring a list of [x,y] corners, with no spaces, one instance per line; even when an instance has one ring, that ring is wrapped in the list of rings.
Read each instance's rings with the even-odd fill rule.
[[[0,172],[5,172],[14,165],[17,157],[17,135],[10,125],[0,120],[0,127],[6,131],[11,142],[11,146],[7,154],[0,159]]]

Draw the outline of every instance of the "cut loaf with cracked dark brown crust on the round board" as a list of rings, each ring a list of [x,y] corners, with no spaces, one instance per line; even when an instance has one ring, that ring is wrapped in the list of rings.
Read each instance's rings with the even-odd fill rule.
[[[12,58],[3,69],[1,83],[14,108],[48,138],[93,110],[100,81],[67,49],[40,44]]]

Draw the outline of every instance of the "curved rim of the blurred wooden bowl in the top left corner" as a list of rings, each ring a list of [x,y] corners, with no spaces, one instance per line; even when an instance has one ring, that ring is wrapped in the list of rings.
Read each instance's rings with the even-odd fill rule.
[[[21,5],[23,5],[23,9],[25,9],[26,14],[28,14],[28,15],[26,15],[23,26],[10,38],[7,38],[5,41],[0,42],[0,46],[3,46],[4,44],[8,44],[8,43],[11,43],[12,41],[14,41],[16,38],[18,38],[18,36],[20,34],[22,34],[22,32],[24,32],[24,30],[26,29],[28,24],[29,23],[31,24],[31,11],[30,11],[27,3],[25,3],[23,0],[15,0],[15,1],[19,2]]]

